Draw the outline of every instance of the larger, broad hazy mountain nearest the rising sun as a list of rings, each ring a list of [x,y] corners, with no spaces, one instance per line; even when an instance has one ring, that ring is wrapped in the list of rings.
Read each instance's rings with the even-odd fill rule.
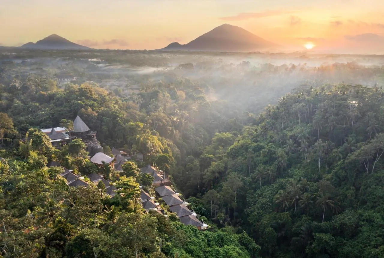
[[[160,50],[186,51],[260,51],[276,48],[279,45],[250,33],[243,28],[223,24],[187,44],[170,43]]]

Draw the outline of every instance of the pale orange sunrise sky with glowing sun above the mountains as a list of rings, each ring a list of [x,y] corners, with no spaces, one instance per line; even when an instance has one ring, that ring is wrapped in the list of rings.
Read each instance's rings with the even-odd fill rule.
[[[287,49],[384,54],[383,0],[0,0],[0,45],[51,34],[92,48],[159,49],[228,23]]]

